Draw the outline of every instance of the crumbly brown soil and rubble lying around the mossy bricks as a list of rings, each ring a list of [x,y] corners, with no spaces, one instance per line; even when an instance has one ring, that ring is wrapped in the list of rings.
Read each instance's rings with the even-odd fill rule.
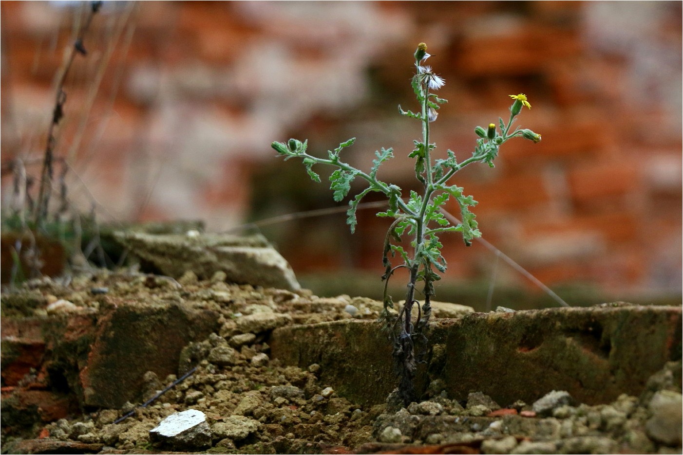
[[[433,381],[425,400],[407,409],[395,394],[363,406],[321,381],[320,365],[299,368],[271,359],[268,336],[288,324],[376,319],[377,302],[227,284],[221,274],[198,280],[189,272],[176,282],[94,271],[61,284],[44,278],[3,295],[3,317],[66,319],[98,313],[117,300],[152,306],[182,300],[216,312],[220,328],[182,349],[177,375],[146,373],[140,401],[122,409],[82,407],[86,411],[68,418],[17,430],[3,406],[2,453],[169,453],[150,442],[150,430],[187,409],[206,414],[212,441],[208,449],[185,453],[681,453],[680,362],[667,364],[641,396],[604,405],[559,392],[534,403],[496,403],[481,393],[449,397],[445,384]],[[37,373],[29,372],[25,382]],[[673,429],[663,429],[666,422]]]

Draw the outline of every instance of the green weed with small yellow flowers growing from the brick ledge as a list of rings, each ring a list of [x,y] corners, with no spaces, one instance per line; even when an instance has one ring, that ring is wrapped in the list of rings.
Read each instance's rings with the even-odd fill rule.
[[[290,139],[287,143],[271,144],[285,160],[301,158],[313,181],[320,182],[320,175],[313,171],[313,165],[328,164],[335,167],[329,179],[330,189],[334,192],[333,198],[337,202],[347,196],[354,179],[361,178],[367,181],[367,188],[349,201],[346,222],[352,232],[357,224],[356,210],[363,197],[370,192],[381,192],[389,199],[387,210],[377,214],[380,217],[393,218],[385,237],[382,259],[385,267],[385,274],[382,276],[385,291],[381,319],[393,340],[393,357],[397,375],[400,377],[399,393],[406,405],[416,398],[413,379],[416,362],[419,362],[419,357],[426,352],[426,329],[431,314],[430,299],[434,295],[434,282],[441,279],[440,274],[446,271],[447,266],[441,254],[443,245],[438,235],[459,232],[466,246],[470,246],[473,239],[482,235],[475,214],[470,211],[470,207],[477,205],[477,201],[472,196],[464,194],[461,187],[452,184],[451,177],[464,166],[474,162],[483,162],[494,167],[493,161],[498,156],[499,148],[512,138],[527,138],[534,143],[541,140],[540,134],[531,130],[512,130],[512,124],[522,111],[522,107],[531,108],[527,97],[520,93],[510,95],[514,102],[510,106],[510,118],[507,123],[501,118],[498,125],[490,123],[487,128],[475,128],[475,134],[479,137],[470,158],[458,162],[456,154],[451,150],[447,150],[446,158],[432,158],[436,144],[430,143],[430,123],[436,120],[440,106],[447,102],[433,92],[443,87],[445,80],[435,74],[430,66],[424,64],[430,57],[426,44],[420,43],[417,46],[414,57],[416,72],[411,85],[419,102],[419,111],[404,111],[401,106],[398,106],[398,110],[401,115],[418,120],[422,126],[422,136],[420,140],[414,141],[415,149],[408,156],[415,158],[415,177],[422,184],[423,192],[410,191],[409,196],[404,199],[401,188],[377,178],[382,163],[393,158],[391,148],[376,151],[372,168],[369,173],[365,173],[343,162],[340,157],[342,151],[354,143],[355,138],[339,144],[334,151],[328,151],[327,158],[317,158],[306,153],[307,141]],[[441,211],[443,205],[451,198],[460,207],[461,222],[457,226],[450,224]],[[401,245],[404,237],[410,238],[410,248]],[[391,258],[398,258],[401,263],[393,265]],[[395,312],[393,300],[387,293],[387,283],[398,269],[406,269],[409,278],[405,302],[400,310]],[[418,282],[423,284],[424,303],[421,306],[415,299]],[[417,307],[415,320],[414,307]],[[416,349],[416,345],[423,348]]]

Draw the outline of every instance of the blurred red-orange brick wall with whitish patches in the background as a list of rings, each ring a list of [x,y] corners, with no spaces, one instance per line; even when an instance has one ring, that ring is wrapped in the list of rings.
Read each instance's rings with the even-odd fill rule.
[[[2,159],[30,163],[84,7],[1,8]],[[432,128],[440,153],[470,156],[474,126],[506,117],[512,93],[529,95],[520,125],[543,136],[454,179],[479,201],[486,239],[548,284],[680,292],[680,18],[673,1],[105,2],[67,80],[58,152],[74,204],[97,201],[102,220],[202,218],[222,230],[333,206],[301,163],[273,157],[270,142],[290,136],[313,153],[356,136],[345,153],[364,168],[394,147],[380,175],[408,190],[419,124],[396,105],[415,110],[411,55],[424,41],[447,81]],[[354,236],[343,220],[264,232],[298,273],[377,273],[385,220],[361,212]],[[481,246],[443,239],[448,276],[491,273]],[[517,279],[506,270],[499,280]]]

